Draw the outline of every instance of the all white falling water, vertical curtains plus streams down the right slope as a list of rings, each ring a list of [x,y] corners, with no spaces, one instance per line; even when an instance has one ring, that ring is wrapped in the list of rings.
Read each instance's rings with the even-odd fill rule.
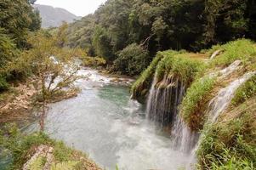
[[[225,78],[241,68],[240,64],[241,61],[236,60],[225,69],[210,74],[209,77]],[[208,122],[213,123],[217,120],[219,114],[230,105],[236,89],[255,74],[256,71],[248,72],[219,91],[208,105],[208,110],[206,111],[206,115],[209,116]],[[179,77],[165,75],[162,81],[158,82],[155,76],[147,101],[147,116],[162,127],[172,125],[172,146],[175,150],[191,154],[191,160],[186,169],[193,169],[192,165],[196,163],[196,150],[200,145],[200,136],[199,133],[191,131],[179,117],[179,104],[185,95],[185,89],[185,85],[180,81]]]

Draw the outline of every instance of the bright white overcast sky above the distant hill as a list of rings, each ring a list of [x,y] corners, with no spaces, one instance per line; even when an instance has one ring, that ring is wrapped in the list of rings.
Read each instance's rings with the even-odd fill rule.
[[[37,4],[50,5],[53,7],[65,8],[77,16],[85,16],[105,3],[106,0],[37,0]]]

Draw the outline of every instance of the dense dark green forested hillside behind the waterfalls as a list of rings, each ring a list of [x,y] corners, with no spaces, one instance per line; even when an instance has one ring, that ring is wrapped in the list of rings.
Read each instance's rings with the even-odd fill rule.
[[[143,68],[159,50],[200,51],[240,37],[255,40],[255,26],[252,0],[108,0],[94,14],[71,24],[69,45],[88,48],[89,54],[109,62],[128,59],[117,53],[123,48],[133,52],[143,48],[151,56],[136,58]],[[129,46],[132,43],[142,46]],[[129,73],[128,64],[123,63],[117,60],[115,69]]]

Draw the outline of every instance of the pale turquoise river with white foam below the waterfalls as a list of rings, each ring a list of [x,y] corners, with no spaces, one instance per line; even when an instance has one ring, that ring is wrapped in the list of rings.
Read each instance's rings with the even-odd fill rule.
[[[88,153],[100,167],[121,170],[173,170],[185,167],[187,155],[171,148],[168,134],[145,118],[145,106],[130,100],[129,89],[111,77],[82,69],[81,93],[52,104],[46,132]]]

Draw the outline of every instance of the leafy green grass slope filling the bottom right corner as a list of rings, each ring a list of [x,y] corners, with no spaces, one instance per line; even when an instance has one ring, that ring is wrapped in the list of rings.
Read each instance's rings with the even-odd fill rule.
[[[256,166],[255,98],[206,125],[197,151],[198,169],[254,169]]]

